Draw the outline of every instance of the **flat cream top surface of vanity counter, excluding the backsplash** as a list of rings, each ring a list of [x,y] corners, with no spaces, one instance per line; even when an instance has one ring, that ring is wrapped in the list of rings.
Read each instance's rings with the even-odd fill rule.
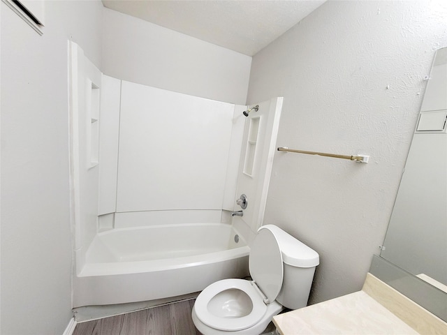
[[[363,291],[276,315],[273,322],[281,335],[418,334]]]

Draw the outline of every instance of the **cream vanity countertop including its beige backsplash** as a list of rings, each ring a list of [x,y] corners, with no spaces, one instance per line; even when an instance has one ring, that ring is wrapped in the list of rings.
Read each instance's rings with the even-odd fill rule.
[[[273,317],[279,334],[447,334],[447,322],[372,274],[361,291]]]

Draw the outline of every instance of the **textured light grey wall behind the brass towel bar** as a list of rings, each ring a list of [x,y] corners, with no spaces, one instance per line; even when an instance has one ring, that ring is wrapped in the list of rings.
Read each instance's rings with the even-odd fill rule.
[[[441,1],[328,1],[254,56],[248,103],[284,96],[265,223],[321,256],[311,302],[360,290],[383,243],[434,50]]]

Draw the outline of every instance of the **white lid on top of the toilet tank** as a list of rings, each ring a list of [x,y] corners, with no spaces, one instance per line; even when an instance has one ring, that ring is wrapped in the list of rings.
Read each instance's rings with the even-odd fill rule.
[[[263,225],[258,229],[268,229],[277,238],[281,249],[282,260],[293,267],[316,267],[320,264],[320,257],[314,249],[309,248],[291,234],[284,232],[276,225]]]

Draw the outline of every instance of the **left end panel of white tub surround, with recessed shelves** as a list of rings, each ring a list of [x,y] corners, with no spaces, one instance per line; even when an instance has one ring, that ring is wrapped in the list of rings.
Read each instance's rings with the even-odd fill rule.
[[[73,42],[69,44],[71,220],[78,263],[96,234],[98,216],[98,124],[102,73]],[[79,270],[79,269],[78,269]]]

